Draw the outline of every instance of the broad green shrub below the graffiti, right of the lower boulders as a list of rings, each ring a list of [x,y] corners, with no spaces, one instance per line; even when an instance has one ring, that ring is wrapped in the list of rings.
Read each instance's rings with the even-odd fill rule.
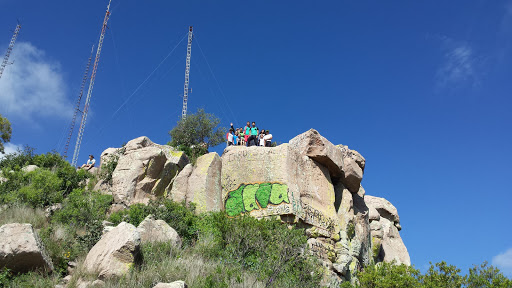
[[[288,229],[278,220],[228,218],[223,212],[205,216],[198,226],[198,245],[210,259],[252,272],[269,287],[319,285],[318,267],[304,253],[303,229]]]

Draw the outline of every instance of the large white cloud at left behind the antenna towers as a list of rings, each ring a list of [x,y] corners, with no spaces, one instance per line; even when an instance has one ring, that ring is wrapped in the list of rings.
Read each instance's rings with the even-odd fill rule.
[[[0,79],[2,113],[28,120],[34,117],[70,118],[72,106],[66,98],[59,63],[48,60],[44,51],[18,42]]]

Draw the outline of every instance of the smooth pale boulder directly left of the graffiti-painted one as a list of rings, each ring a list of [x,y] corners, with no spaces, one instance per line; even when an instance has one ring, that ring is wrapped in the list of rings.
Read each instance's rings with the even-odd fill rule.
[[[170,197],[174,201],[193,202],[198,213],[222,210],[221,169],[222,161],[215,152],[197,158],[193,167],[178,175],[179,183],[173,185]]]

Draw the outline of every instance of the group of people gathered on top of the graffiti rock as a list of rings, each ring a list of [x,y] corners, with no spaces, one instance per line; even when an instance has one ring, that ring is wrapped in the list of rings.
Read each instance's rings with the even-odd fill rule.
[[[244,145],[250,146],[265,146],[272,147],[272,134],[268,130],[259,130],[256,127],[256,122],[251,123],[247,121],[247,125],[243,128],[234,128],[231,123],[231,128],[226,134],[227,146],[231,145]]]

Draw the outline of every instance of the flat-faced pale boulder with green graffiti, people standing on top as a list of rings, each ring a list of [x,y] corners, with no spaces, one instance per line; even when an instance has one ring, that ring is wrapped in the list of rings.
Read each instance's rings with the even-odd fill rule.
[[[222,191],[229,216],[292,215],[314,227],[313,234],[335,238],[339,232],[327,167],[289,144],[226,148]]]

